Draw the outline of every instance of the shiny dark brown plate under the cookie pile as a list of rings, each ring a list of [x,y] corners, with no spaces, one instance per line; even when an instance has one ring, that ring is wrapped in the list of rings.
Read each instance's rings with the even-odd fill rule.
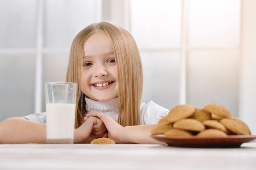
[[[229,135],[227,137],[166,137],[164,135],[150,135],[150,137],[166,142],[168,146],[190,148],[238,148],[241,144],[256,139],[256,135]]]

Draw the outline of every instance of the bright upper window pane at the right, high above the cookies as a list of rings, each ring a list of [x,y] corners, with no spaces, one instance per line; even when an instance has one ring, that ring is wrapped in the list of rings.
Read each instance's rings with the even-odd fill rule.
[[[189,46],[240,44],[240,0],[191,0],[189,3]]]

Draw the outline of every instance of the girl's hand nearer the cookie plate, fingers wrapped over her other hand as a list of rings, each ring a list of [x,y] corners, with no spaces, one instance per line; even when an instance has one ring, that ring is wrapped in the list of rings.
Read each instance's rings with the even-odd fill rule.
[[[117,144],[127,143],[125,127],[121,126],[113,118],[101,112],[92,112],[86,114],[84,120],[88,120],[92,117],[98,117],[100,120],[102,120],[108,130],[108,138],[114,140]]]

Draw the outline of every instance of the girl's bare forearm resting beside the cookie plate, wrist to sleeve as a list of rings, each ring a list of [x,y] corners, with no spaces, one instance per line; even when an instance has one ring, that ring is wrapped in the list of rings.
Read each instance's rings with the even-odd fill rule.
[[[150,131],[155,127],[156,124],[125,126],[124,143],[166,144],[150,137]]]

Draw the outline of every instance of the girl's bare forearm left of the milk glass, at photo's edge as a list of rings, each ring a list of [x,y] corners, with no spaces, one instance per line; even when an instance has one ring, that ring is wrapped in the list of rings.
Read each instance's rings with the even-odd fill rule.
[[[46,143],[46,125],[27,118],[9,118],[0,123],[0,144]]]

